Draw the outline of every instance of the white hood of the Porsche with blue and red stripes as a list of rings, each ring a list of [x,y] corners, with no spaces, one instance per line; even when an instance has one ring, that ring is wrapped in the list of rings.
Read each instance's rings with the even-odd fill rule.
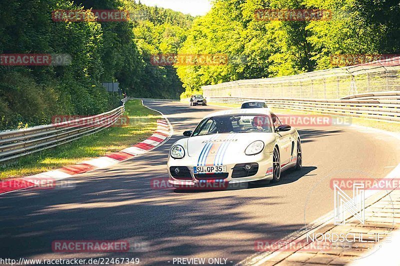
[[[227,154],[244,153],[244,149],[255,140],[262,140],[266,145],[273,139],[273,133],[267,132],[192,136],[187,139],[187,154],[189,157],[197,157],[199,160],[206,160],[208,157],[208,160],[216,161]]]

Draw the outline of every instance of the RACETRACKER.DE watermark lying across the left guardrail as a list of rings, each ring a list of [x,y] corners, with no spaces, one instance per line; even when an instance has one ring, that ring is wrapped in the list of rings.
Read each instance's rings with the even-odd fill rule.
[[[112,115],[53,115],[51,123],[56,127],[87,127],[87,126],[124,126],[129,124],[129,116],[121,115],[118,118]]]

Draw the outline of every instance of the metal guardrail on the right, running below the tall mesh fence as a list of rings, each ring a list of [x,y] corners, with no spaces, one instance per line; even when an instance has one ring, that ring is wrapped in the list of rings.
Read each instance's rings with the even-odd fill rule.
[[[381,97],[397,96],[397,92],[384,93]],[[362,99],[365,95],[353,95],[351,99],[301,99],[301,98],[242,98],[242,97],[208,97],[211,102],[241,103],[245,100],[263,100],[269,107],[316,111],[320,113],[377,119],[380,121],[400,122],[400,99],[378,98]]]

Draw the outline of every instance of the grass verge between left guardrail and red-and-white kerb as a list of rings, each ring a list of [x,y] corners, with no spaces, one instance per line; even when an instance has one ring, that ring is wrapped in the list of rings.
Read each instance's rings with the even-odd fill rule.
[[[129,117],[127,124],[109,127],[0,166],[0,179],[32,175],[130,147],[149,137],[157,127],[156,120],[161,118],[158,112],[144,107],[138,99],[125,103],[124,115]]]

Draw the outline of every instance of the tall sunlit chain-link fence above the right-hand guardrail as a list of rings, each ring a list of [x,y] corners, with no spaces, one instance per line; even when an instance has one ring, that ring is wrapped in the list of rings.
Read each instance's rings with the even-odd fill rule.
[[[400,56],[291,76],[203,86],[206,97],[339,99],[351,94],[400,90]]]

